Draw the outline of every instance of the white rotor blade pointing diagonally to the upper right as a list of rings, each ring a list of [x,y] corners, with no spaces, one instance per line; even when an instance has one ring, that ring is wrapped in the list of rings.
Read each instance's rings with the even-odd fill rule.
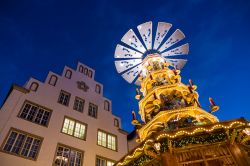
[[[178,43],[179,41],[181,41],[182,39],[185,38],[184,33],[177,29],[169,38],[168,40],[160,47],[159,51],[163,52],[166,49],[168,49],[169,47],[171,47],[172,45]]]

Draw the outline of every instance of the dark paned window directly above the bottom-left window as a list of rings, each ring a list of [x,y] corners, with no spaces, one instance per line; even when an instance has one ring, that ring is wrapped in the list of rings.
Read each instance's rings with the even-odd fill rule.
[[[19,117],[42,126],[48,126],[50,114],[50,110],[38,106],[37,104],[32,104],[29,101],[25,101]]]

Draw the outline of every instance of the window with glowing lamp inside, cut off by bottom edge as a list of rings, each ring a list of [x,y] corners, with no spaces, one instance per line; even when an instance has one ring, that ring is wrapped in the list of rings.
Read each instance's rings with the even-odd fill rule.
[[[58,145],[54,164],[56,166],[81,166],[83,152],[64,145]]]

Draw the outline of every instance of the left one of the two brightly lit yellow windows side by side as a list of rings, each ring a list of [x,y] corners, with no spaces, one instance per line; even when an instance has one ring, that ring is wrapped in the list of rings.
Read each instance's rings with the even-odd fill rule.
[[[62,132],[76,138],[86,139],[86,125],[70,118],[64,118]]]

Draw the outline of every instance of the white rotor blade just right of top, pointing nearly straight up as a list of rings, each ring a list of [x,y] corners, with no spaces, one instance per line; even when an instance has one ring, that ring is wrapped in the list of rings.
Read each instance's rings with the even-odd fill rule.
[[[165,22],[158,22],[157,31],[155,35],[155,41],[154,41],[154,49],[157,50],[157,48],[160,46],[162,40],[167,35],[169,29],[172,27],[172,24],[165,23]]]

